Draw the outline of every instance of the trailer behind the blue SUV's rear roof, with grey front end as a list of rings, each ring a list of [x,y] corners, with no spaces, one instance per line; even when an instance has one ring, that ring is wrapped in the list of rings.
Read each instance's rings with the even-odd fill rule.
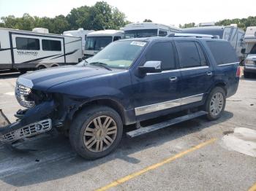
[[[188,34],[211,34],[219,39],[225,39],[236,50],[239,60],[243,61],[241,49],[244,45],[244,31],[236,25],[231,26],[198,26],[192,28],[183,28],[182,33]]]

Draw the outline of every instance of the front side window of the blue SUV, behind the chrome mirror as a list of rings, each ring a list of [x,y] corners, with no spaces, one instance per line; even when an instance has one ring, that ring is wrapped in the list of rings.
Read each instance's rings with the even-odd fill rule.
[[[146,53],[146,61],[161,61],[162,70],[176,69],[176,60],[171,42],[157,42]]]

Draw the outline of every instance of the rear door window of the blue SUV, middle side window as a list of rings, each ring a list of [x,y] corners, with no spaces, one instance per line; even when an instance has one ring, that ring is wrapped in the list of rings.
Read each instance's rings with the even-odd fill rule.
[[[201,66],[200,55],[195,42],[176,42],[181,68]]]

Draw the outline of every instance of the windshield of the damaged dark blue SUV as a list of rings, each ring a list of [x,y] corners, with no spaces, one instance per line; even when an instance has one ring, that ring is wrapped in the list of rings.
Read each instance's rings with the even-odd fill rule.
[[[142,41],[112,42],[87,61],[91,65],[103,63],[109,68],[128,69],[145,45],[146,42]]]

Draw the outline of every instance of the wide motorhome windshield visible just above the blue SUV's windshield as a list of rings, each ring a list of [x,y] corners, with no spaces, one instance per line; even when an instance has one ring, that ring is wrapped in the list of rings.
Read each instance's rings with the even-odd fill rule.
[[[125,39],[157,36],[157,29],[142,29],[142,30],[129,30],[124,31]]]

